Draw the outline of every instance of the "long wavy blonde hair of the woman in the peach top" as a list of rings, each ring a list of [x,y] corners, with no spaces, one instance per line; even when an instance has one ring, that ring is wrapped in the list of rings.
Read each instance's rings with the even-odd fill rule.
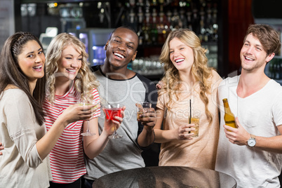
[[[170,61],[170,50],[169,43],[174,38],[179,39],[182,43],[186,44],[193,50],[194,54],[194,63],[192,65],[192,76],[200,86],[200,98],[205,104],[205,112],[210,122],[213,121],[213,116],[208,110],[208,98],[207,93],[210,93],[211,83],[208,81],[208,78],[212,75],[212,68],[208,67],[208,58],[206,57],[206,49],[202,48],[201,41],[198,36],[190,29],[177,29],[168,34],[166,42],[163,44],[161,50],[160,60],[164,66],[165,74],[163,76],[163,89],[159,90],[159,94],[166,91],[168,92],[168,104],[166,108],[170,109],[173,98],[175,95],[177,100],[179,99],[179,93],[177,90],[180,90],[181,80],[178,70],[173,65],[173,62]]]

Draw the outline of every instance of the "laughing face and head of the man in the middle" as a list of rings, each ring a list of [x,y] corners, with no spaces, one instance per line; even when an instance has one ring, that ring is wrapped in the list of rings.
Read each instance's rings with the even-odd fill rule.
[[[138,47],[138,36],[126,28],[118,28],[105,45],[106,62],[115,69],[127,67],[131,60],[135,60]]]

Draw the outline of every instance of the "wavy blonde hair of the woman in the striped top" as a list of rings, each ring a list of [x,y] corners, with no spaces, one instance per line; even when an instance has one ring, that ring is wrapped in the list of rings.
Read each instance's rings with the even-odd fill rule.
[[[46,53],[46,76],[47,76],[47,94],[48,100],[53,103],[55,100],[55,78],[58,76],[58,60],[62,56],[62,51],[67,46],[74,46],[77,51],[81,52],[82,61],[79,73],[74,79],[74,87],[83,96],[88,96],[88,99],[93,100],[93,88],[98,88],[99,84],[96,81],[94,74],[91,72],[88,62],[88,53],[86,53],[86,46],[79,41],[76,36],[67,33],[58,34],[51,41]]]

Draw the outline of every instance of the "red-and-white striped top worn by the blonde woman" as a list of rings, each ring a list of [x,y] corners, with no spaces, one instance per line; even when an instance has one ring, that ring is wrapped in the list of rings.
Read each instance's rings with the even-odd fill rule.
[[[95,101],[100,102],[98,90],[95,88],[93,89],[93,96]],[[74,86],[65,95],[55,95],[55,102],[53,104],[46,99],[43,109],[46,113],[47,131],[51,128],[58,116],[69,105],[74,105],[79,99],[80,93]],[[94,115],[94,117],[98,116],[100,116],[100,109]],[[50,153],[51,170],[53,182],[55,183],[71,183],[86,174],[81,136],[83,130],[81,128],[82,123],[83,121],[69,123]]]

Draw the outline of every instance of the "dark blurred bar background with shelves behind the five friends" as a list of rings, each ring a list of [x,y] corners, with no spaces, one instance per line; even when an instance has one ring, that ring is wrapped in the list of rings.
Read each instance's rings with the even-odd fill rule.
[[[208,49],[208,65],[227,77],[240,74],[239,53],[248,25],[265,23],[281,32],[281,7],[282,1],[276,0],[1,0],[0,15],[13,15],[8,17],[13,24],[0,27],[0,41],[13,32],[27,31],[42,36],[48,46],[53,36],[48,36],[46,29],[55,27],[58,34],[69,32],[81,39],[90,64],[102,65],[104,45],[112,30],[130,25],[139,35],[140,45],[128,68],[159,81],[163,76],[159,55],[166,37],[174,29],[189,28]],[[1,18],[2,23],[7,20]],[[280,83],[281,55],[265,69]]]

